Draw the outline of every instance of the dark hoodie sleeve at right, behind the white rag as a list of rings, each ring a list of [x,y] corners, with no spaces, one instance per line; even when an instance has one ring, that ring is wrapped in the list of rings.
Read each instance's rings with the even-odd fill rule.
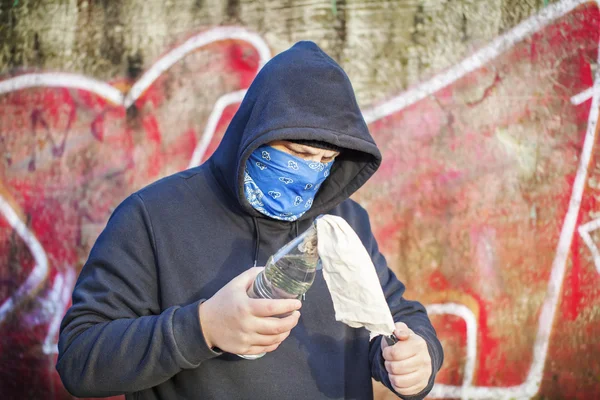
[[[360,206],[359,206],[360,207]],[[371,375],[376,381],[383,383],[388,389],[398,397],[405,400],[423,399],[433,388],[435,376],[444,361],[444,352],[442,345],[437,338],[435,329],[427,316],[425,307],[419,302],[404,299],[405,286],[400,282],[396,275],[388,268],[387,261],[377,246],[377,241],[371,231],[369,216],[362,207],[358,222],[357,233],[365,244],[365,248],[371,255],[379,281],[383,288],[383,293],[387,299],[395,322],[404,322],[417,335],[425,339],[427,349],[431,357],[432,373],[427,387],[413,396],[403,396],[397,393],[390,383],[390,379],[385,369],[383,355],[381,354],[381,340],[378,336],[371,340],[369,344],[369,362],[371,365]]]

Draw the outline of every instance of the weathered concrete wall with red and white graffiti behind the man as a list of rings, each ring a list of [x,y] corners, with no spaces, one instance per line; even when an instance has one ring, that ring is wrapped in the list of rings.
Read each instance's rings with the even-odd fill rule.
[[[2,398],[69,397],[58,324],[111,210],[206,159],[302,39],[346,69],[383,151],[355,197],[443,341],[431,397],[600,398],[598,7],[3,0]]]

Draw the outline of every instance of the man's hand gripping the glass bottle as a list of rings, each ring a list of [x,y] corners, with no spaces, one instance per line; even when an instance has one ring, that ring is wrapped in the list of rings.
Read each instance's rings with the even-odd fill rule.
[[[300,300],[251,299],[246,293],[264,268],[250,268],[200,305],[200,325],[209,347],[234,354],[275,350],[298,323]],[[291,313],[284,318],[276,315]]]

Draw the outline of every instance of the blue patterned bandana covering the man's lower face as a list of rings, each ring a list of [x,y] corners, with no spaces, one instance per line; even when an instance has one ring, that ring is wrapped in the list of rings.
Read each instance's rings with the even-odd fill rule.
[[[308,161],[270,146],[261,146],[246,161],[246,199],[264,215],[295,221],[312,206],[332,165],[333,161]]]

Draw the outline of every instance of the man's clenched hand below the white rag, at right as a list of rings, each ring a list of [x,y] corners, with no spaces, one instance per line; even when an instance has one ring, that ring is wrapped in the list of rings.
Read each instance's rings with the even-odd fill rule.
[[[404,322],[396,322],[394,334],[399,342],[390,346],[381,340],[385,369],[394,390],[403,396],[421,392],[431,376],[431,357],[425,340]]]

